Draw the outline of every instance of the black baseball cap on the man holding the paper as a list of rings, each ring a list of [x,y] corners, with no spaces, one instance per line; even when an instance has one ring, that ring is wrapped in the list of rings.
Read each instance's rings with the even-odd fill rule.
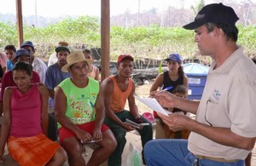
[[[207,22],[235,26],[237,20],[239,18],[232,8],[225,6],[223,3],[212,3],[202,8],[196,15],[194,22],[183,26],[183,28],[194,30]]]

